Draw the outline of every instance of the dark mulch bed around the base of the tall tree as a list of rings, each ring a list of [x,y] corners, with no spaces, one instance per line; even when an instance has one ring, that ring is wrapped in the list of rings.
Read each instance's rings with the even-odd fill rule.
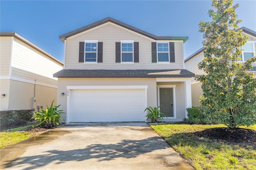
[[[232,144],[256,144],[256,130],[247,128],[209,128],[194,132],[196,136]]]

